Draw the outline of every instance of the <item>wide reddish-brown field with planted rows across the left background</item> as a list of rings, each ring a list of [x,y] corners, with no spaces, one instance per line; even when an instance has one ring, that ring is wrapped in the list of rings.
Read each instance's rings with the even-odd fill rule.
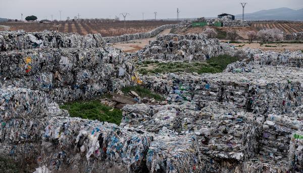
[[[177,21],[107,21],[107,20],[81,20],[62,21],[49,23],[21,23],[2,22],[0,25],[9,26],[12,31],[24,30],[26,32],[37,32],[53,30],[59,32],[76,32],[80,35],[100,33],[102,36],[119,36],[123,34],[134,34],[148,32],[166,24],[176,24]]]

